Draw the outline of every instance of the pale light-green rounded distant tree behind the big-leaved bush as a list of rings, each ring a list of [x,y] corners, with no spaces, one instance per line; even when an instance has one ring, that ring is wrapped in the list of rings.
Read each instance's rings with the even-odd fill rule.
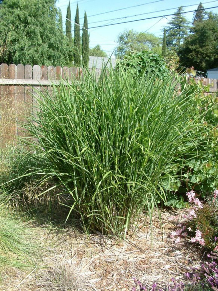
[[[118,58],[123,58],[133,51],[148,50],[161,54],[161,41],[159,37],[152,33],[125,30],[118,35],[117,41],[119,45],[116,48],[115,55]]]

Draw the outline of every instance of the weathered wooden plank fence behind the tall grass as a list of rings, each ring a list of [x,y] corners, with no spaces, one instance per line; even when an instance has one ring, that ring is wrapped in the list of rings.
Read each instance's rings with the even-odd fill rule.
[[[100,69],[95,69],[97,75]],[[34,90],[50,90],[49,85],[58,85],[60,79],[73,80],[83,75],[82,69],[75,67],[54,67],[34,65],[0,65],[0,143],[25,135],[20,124],[25,121],[28,111],[36,105]],[[217,79],[196,78],[204,85],[211,84],[210,92],[218,91]]]

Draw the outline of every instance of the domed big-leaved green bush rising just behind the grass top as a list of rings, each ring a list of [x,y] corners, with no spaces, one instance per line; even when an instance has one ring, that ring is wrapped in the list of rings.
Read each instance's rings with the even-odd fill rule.
[[[132,53],[124,57],[118,66],[124,65],[126,68],[132,68],[133,72],[154,72],[155,75],[163,79],[168,75],[166,61],[162,56],[149,51]]]

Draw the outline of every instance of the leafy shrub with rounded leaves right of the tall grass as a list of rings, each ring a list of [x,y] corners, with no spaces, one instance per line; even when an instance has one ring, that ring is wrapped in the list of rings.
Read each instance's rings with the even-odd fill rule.
[[[183,79],[182,89],[187,85]],[[205,154],[200,158],[189,159],[184,162],[187,171],[184,173],[187,185],[200,191],[202,196],[214,191],[218,187],[218,99],[214,95],[205,96],[204,92],[209,86],[204,86],[200,81],[189,80],[189,92],[201,92],[196,94],[197,106],[193,108],[191,118],[199,118],[199,122],[205,127],[205,133],[196,131],[196,138],[201,142],[198,151]],[[200,130],[201,131],[201,130]]]

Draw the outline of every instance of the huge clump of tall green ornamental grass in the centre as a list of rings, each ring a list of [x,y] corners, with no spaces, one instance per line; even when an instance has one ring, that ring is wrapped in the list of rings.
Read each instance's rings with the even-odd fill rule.
[[[64,187],[59,195],[69,193],[69,215],[86,231],[125,237],[142,211],[166,200],[162,182],[177,177],[181,157],[201,154],[194,130],[205,127],[190,118],[188,86],[177,94],[176,83],[170,74],[103,69],[40,93],[26,125],[38,141],[25,141],[43,160],[35,174]]]

